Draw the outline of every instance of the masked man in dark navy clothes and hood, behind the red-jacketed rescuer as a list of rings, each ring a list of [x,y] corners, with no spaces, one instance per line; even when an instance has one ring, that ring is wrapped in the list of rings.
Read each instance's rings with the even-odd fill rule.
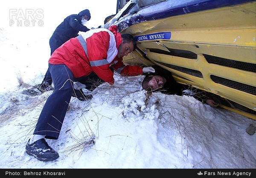
[[[60,47],[67,40],[70,40],[73,37],[77,37],[79,32],[89,31],[90,29],[84,25],[88,20],[90,20],[90,18],[90,11],[88,9],[79,12],[79,14],[71,14],[67,16],[64,21],[57,26],[49,40],[51,55],[55,49]],[[52,90],[53,88],[51,85],[52,77],[49,73],[49,69],[47,69],[42,83],[38,86],[38,90],[42,93],[48,90]]]

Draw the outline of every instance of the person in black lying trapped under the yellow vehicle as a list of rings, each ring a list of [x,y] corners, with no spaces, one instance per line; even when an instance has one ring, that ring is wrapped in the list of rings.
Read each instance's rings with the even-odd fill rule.
[[[155,65],[151,67],[155,69],[155,72],[146,74],[142,82],[143,89],[146,91],[159,91],[167,95],[191,95],[211,107],[216,108],[218,106],[218,103],[212,99],[209,93],[177,83],[172,77],[172,73],[160,66]]]

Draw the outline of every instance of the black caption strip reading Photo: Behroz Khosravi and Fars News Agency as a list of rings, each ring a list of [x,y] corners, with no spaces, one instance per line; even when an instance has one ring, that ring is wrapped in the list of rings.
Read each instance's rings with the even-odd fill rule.
[[[0,177],[70,177],[73,175],[101,176],[108,174],[112,177],[125,176],[189,176],[189,177],[255,177],[256,169],[0,169]],[[125,173],[125,174],[123,174]]]

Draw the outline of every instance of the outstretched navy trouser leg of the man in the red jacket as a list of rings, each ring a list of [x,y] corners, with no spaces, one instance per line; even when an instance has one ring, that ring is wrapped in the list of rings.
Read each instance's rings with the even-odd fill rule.
[[[49,64],[49,72],[54,90],[46,103],[35,126],[34,135],[46,135],[45,138],[58,139],[61,132],[73,90],[73,73],[64,64]]]

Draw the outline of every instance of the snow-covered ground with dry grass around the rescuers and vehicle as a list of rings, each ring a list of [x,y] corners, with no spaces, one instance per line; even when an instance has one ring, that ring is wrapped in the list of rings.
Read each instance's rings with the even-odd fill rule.
[[[143,75],[115,74],[116,84],[102,84],[92,100],[71,98],[59,139],[47,140],[60,158],[27,155],[52,92],[35,85],[47,70],[53,31],[35,29],[0,27],[0,168],[256,168],[256,134],[246,132],[255,120],[189,96],[147,98]]]

